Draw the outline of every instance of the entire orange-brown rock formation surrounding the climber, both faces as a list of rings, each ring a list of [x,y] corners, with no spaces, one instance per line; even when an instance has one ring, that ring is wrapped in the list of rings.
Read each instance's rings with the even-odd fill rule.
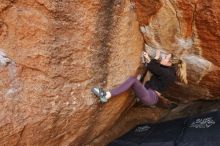
[[[0,0],[0,144],[105,145],[160,120],[167,110],[132,107],[130,92],[105,105],[90,93],[135,74],[144,41],[187,63],[189,85],[166,96],[219,98],[219,8],[218,0]]]

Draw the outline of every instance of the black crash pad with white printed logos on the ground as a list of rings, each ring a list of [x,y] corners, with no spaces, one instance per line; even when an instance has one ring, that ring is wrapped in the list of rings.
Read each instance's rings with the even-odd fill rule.
[[[220,111],[139,125],[108,146],[220,146]]]

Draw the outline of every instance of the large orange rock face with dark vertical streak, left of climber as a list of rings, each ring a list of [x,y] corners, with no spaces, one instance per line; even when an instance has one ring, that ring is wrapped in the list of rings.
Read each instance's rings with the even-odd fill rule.
[[[130,107],[128,93],[107,106],[90,93],[139,65],[129,1],[2,0],[0,14],[1,145],[85,145]]]

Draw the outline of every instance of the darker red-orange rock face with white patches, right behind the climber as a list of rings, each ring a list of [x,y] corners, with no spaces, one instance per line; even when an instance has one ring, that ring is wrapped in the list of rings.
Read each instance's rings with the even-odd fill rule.
[[[136,3],[138,18],[145,17],[146,9],[152,5],[155,7],[155,12],[145,17],[147,20],[139,19],[146,45],[172,52],[187,64],[189,84],[176,84],[165,95],[184,102],[219,98],[220,2],[136,0]]]

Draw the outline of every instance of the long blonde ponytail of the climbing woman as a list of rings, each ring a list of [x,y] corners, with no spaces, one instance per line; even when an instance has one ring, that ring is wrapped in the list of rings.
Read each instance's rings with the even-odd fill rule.
[[[171,63],[176,68],[176,73],[180,81],[188,84],[186,63],[183,60],[175,57],[173,54],[171,55]]]

